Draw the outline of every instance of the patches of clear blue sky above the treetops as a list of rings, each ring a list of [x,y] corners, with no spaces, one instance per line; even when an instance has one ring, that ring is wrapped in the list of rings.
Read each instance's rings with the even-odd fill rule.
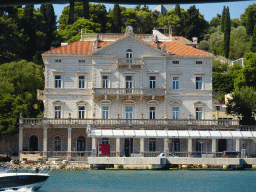
[[[196,8],[199,9],[202,15],[204,15],[205,20],[210,21],[213,17],[219,13],[222,14],[222,10],[224,6],[229,7],[230,18],[240,18],[240,15],[245,12],[245,9],[249,6],[256,3],[256,1],[238,1],[238,2],[224,2],[224,3],[201,3],[195,4]],[[60,17],[62,10],[68,4],[53,4],[55,14],[57,15],[57,20]],[[114,4],[107,4],[104,3],[106,10],[113,9]],[[156,4],[157,5],[157,4]],[[152,9],[156,5],[147,5],[149,9]],[[180,7],[187,10],[190,6],[194,4],[180,4]],[[120,6],[125,6],[127,8],[133,8],[136,5],[127,5],[127,4],[120,4]],[[143,5],[142,5],[143,6]],[[35,8],[39,8],[40,5],[35,5]]]

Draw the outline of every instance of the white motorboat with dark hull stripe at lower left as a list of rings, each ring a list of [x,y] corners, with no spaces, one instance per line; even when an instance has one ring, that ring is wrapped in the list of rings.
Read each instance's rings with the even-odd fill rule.
[[[21,187],[38,190],[42,184],[49,178],[49,170],[35,169],[30,172],[13,172],[8,164],[0,165],[0,191],[6,189],[19,189]]]

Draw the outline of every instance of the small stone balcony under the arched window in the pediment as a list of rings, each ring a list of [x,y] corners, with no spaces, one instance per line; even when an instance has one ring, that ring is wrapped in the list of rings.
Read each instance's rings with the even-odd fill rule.
[[[118,68],[127,67],[128,69],[140,67],[142,69],[142,66],[144,65],[144,62],[140,58],[132,59],[132,58],[122,58],[116,60],[116,66]]]

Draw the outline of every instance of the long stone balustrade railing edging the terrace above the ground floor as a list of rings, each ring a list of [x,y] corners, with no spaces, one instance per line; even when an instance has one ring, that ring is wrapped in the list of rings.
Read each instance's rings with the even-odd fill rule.
[[[77,119],[77,118],[20,118],[21,125],[158,125],[158,126],[198,126],[198,125],[239,125],[239,120],[208,119]]]

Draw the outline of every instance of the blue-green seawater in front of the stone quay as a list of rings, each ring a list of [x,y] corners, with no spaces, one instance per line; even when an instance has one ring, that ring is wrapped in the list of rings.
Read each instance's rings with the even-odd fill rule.
[[[251,192],[255,179],[254,170],[55,170],[39,192]]]

